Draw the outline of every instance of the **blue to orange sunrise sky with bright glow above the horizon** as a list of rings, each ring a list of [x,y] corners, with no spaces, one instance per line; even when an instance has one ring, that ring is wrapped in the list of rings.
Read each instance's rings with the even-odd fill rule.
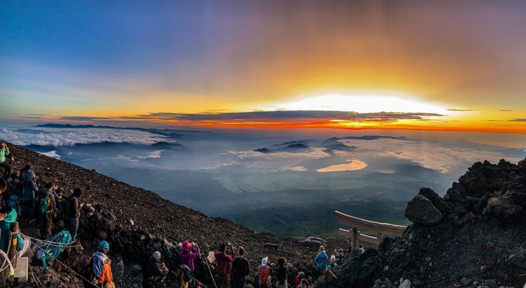
[[[526,133],[525,14],[522,1],[8,1],[0,118]]]

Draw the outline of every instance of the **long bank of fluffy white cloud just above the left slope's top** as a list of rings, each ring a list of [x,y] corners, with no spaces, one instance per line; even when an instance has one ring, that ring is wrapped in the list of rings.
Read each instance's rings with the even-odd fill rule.
[[[151,145],[169,141],[164,135],[120,129],[2,129],[0,138],[16,145],[73,146],[102,142]],[[171,141],[171,140],[170,140]],[[172,141],[173,142],[173,141]]]

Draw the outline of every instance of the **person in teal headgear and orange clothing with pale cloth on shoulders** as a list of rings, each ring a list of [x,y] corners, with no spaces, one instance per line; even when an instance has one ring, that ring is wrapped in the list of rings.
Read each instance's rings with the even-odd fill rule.
[[[100,284],[105,288],[115,288],[112,274],[112,260],[107,257],[109,244],[106,241],[100,241],[97,252],[88,259],[86,263],[86,278],[92,281],[93,285]],[[93,286],[92,286],[93,287]]]

